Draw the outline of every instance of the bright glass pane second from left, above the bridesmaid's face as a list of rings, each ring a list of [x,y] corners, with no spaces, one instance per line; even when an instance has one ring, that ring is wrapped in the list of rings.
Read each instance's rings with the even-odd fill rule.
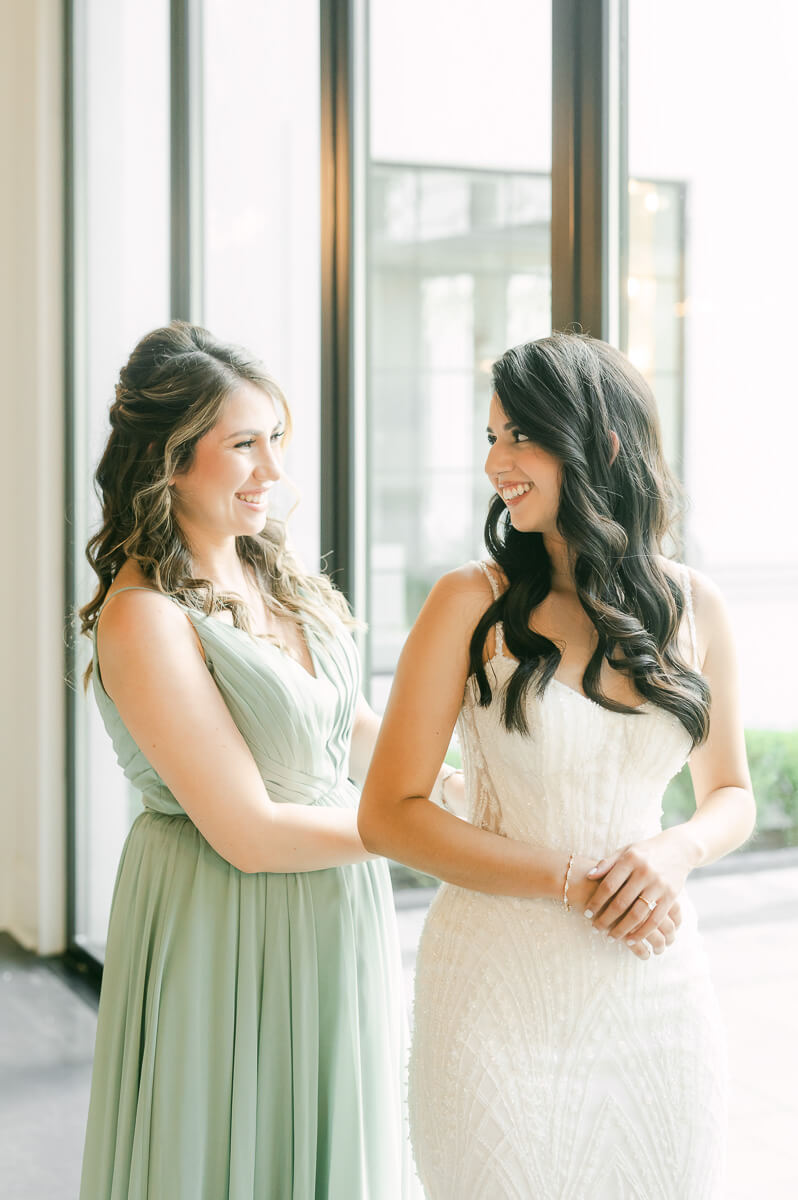
[[[316,565],[318,0],[204,0],[203,47],[204,323],[262,358],[288,397],[287,469],[302,494],[292,533]]]

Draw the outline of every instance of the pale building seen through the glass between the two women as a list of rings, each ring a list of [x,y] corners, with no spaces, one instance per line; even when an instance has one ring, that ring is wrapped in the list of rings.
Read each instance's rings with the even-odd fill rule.
[[[380,703],[434,581],[481,556],[491,365],[551,328],[550,179],[372,163],[370,629]]]

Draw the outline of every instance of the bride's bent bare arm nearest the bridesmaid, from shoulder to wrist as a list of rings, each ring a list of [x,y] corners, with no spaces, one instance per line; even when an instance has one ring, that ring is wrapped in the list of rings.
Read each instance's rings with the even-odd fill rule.
[[[398,662],[358,824],[374,853],[460,887],[559,899],[566,853],[478,829],[430,800],[462,703],[472,631],[490,601],[476,566],[445,575],[430,593]],[[571,875],[575,895],[589,865]]]

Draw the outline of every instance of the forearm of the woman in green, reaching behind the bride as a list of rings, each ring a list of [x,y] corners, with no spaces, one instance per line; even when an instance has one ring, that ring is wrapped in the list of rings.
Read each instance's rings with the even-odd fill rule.
[[[320,871],[373,857],[358,833],[355,809],[270,803],[241,869],[247,874]]]

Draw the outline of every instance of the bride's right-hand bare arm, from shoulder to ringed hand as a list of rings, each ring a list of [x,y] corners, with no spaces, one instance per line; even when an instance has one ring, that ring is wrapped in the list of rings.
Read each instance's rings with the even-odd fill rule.
[[[655,916],[640,923],[630,912],[636,896],[644,894],[661,906],[677,895],[689,872],[740,846],[754,829],[756,806],[745,756],[739,703],[737,656],[726,612],[718,588],[692,574],[696,625],[702,671],[712,689],[709,736],[690,756],[696,811],[683,824],[664,830],[599,863],[601,878],[589,907],[599,928],[613,928],[620,937],[646,937]],[[611,899],[612,898],[612,899]],[[611,902],[608,902],[611,900]],[[606,906],[606,907],[605,907]],[[604,908],[604,911],[601,911]]]

